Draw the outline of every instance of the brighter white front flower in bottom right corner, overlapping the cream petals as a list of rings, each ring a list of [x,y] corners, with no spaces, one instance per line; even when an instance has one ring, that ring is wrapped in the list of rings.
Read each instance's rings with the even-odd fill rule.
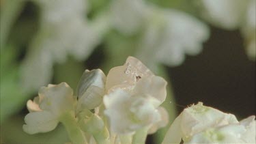
[[[255,143],[255,116],[195,134],[187,143]]]

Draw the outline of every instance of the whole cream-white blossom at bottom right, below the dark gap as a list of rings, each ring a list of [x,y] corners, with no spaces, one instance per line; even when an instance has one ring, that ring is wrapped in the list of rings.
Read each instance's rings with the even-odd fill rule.
[[[163,144],[255,143],[255,116],[238,121],[234,115],[203,106],[184,109],[173,121]]]

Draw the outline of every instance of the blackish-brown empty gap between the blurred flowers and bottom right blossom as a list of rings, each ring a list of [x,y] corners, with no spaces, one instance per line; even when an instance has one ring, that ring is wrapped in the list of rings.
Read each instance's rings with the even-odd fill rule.
[[[202,53],[168,68],[176,103],[203,102],[238,119],[255,115],[255,61],[244,51],[240,31],[211,28]],[[184,107],[177,106],[179,112]]]

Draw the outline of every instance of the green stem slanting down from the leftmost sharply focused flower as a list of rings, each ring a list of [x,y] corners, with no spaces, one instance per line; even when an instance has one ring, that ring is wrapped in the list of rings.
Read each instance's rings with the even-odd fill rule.
[[[87,144],[82,130],[79,128],[74,117],[74,113],[65,113],[61,115],[61,123],[65,126],[70,140],[74,144]]]

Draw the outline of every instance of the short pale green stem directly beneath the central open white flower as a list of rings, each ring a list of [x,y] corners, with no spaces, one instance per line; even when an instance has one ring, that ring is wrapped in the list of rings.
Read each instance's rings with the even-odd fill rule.
[[[132,137],[132,144],[145,143],[148,129],[149,129],[148,127],[145,127],[137,130],[137,132],[135,132],[135,134]]]

